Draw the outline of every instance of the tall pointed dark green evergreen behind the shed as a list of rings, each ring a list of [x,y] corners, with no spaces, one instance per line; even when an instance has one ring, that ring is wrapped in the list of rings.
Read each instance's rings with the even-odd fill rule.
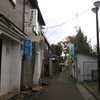
[[[87,36],[84,36],[84,33],[82,32],[81,28],[78,29],[77,35],[72,40],[72,42],[74,43],[76,50],[90,53],[91,47],[87,42]]]

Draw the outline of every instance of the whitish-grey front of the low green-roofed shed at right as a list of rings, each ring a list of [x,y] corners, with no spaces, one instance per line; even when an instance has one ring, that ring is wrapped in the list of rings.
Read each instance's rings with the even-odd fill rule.
[[[77,51],[75,61],[70,66],[71,74],[77,82],[92,81],[93,70],[97,70],[97,56]]]

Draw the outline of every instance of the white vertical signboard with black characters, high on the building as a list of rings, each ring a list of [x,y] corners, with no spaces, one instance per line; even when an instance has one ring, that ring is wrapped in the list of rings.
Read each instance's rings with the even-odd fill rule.
[[[36,27],[37,25],[37,9],[29,9],[29,27]]]

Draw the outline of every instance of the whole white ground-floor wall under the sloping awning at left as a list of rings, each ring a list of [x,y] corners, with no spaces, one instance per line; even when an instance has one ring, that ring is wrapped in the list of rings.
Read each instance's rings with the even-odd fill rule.
[[[19,92],[21,74],[20,44],[7,38],[2,39],[0,95],[7,92]]]

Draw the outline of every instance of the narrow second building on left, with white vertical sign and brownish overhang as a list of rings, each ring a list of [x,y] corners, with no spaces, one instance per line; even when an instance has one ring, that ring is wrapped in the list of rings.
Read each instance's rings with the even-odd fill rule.
[[[33,13],[34,12],[34,13]],[[31,13],[31,14],[30,14]],[[33,23],[30,25],[30,15],[33,13]],[[37,0],[30,0],[25,3],[24,12],[24,31],[28,34],[28,38],[32,41],[32,54],[29,56],[23,56],[23,69],[22,69],[22,86],[38,85],[42,74],[42,69],[45,66],[44,51],[48,51],[50,44],[47,38],[44,36],[42,26],[45,25],[45,21],[42,17]]]

